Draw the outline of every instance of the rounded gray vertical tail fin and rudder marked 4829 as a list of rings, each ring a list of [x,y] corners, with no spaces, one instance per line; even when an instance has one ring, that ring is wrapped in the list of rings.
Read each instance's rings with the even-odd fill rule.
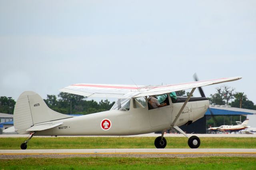
[[[26,130],[35,124],[69,117],[50,109],[37,93],[25,91],[14,107],[14,128],[19,134],[28,134]]]

